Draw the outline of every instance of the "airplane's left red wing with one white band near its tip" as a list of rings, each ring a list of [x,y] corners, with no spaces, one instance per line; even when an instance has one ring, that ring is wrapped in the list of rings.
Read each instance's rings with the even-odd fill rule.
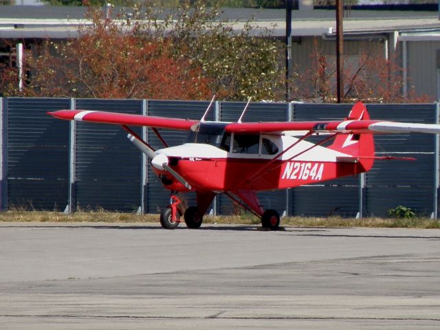
[[[119,124],[131,126],[151,126],[162,129],[188,130],[198,120],[154,117],[151,115],[133,115],[107,111],[89,110],[58,110],[47,112],[58,119],[76,120],[80,122],[99,122],[102,124]]]

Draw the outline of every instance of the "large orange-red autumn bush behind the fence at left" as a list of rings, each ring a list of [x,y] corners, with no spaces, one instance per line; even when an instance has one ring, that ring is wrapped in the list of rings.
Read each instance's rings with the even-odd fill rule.
[[[208,79],[185,58],[175,58],[168,42],[134,36],[126,25],[91,11],[91,25],[78,39],[45,41],[36,58],[24,96],[81,98],[208,98]]]

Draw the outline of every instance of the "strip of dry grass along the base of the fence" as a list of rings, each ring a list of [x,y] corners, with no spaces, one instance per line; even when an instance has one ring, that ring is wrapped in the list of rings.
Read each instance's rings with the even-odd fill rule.
[[[8,210],[0,212],[0,221],[5,222],[107,222],[107,223],[159,223],[159,214],[135,214],[122,212],[63,212]],[[204,223],[244,224],[257,225],[260,219],[251,214],[234,216],[206,216]],[[410,219],[389,219],[369,217],[364,219],[341,217],[286,217],[281,220],[282,225],[300,227],[377,227],[377,228],[437,228],[440,221],[437,219],[415,217]]]

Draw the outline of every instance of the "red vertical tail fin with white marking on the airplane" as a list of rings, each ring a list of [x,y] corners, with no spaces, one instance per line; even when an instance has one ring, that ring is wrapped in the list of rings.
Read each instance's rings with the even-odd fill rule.
[[[345,120],[369,120],[370,115],[362,102],[356,103]],[[374,141],[372,133],[346,134],[342,133],[335,137],[329,148],[347,153],[353,158],[359,157],[358,161],[364,170],[369,170],[373,166]]]

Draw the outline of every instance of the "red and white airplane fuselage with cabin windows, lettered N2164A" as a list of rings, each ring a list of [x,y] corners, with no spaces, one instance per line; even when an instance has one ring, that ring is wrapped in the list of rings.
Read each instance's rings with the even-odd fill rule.
[[[187,143],[162,148],[168,165],[197,191],[274,190],[361,173],[347,153],[301,140],[289,132],[228,133],[223,122],[201,122]],[[166,170],[153,166],[170,190],[187,190]]]

